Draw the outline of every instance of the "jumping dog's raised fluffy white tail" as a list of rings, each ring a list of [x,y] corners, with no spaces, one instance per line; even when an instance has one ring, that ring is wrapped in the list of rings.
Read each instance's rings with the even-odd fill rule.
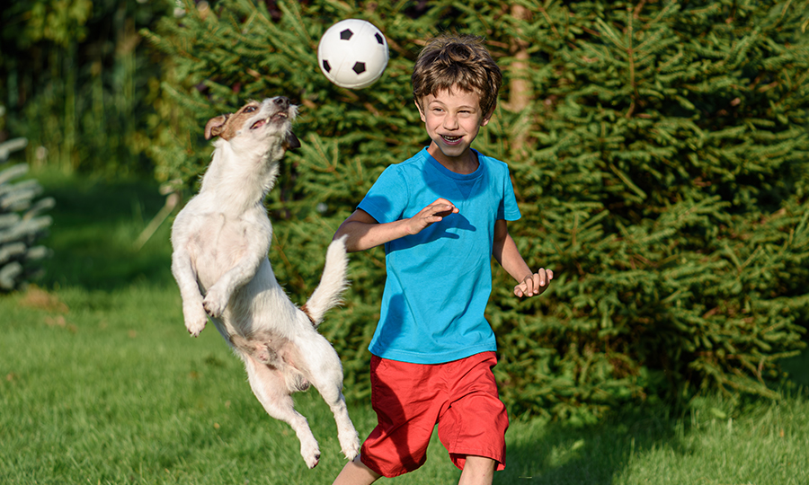
[[[348,287],[346,279],[348,256],[345,253],[345,237],[342,236],[329,244],[320,285],[312,292],[307,303],[301,307],[315,328],[323,321],[323,315],[330,308],[342,302],[342,292]]]

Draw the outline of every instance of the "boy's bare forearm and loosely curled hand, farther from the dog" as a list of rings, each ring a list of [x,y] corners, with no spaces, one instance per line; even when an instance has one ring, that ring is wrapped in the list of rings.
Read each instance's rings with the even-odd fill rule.
[[[511,275],[511,278],[519,282],[514,287],[514,295],[520,297],[539,295],[547,289],[550,280],[554,278],[554,272],[550,269],[540,268],[536,273],[531,271],[509,234],[508,224],[502,219],[494,223],[492,253],[494,259]]]

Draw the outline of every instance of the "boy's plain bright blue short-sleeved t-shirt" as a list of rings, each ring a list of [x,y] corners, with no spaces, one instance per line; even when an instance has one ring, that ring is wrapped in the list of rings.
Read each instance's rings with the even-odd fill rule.
[[[494,222],[520,218],[505,163],[477,154],[477,170],[451,172],[425,149],[390,165],[360,202],[378,223],[412,217],[437,198],[458,214],[385,244],[387,280],[369,350],[440,364],[496,350],[485,320],[492,292]]]

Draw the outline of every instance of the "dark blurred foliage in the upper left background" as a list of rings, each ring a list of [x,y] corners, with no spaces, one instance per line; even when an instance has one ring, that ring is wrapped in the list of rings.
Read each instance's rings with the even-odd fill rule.
[[[142,153],[159,65],[138,29],[172,4],[36,0],[0,10],[0,102],[8,110],[0,140],[28,138],[35,166],[152,172]]]

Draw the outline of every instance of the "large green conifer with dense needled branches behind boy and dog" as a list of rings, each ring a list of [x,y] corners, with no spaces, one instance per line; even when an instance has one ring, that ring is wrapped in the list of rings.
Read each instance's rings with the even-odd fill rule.
[[[529,266],[556,273],[518,301],[495,270],[487,317],[511,410],[582,423],[703,389],[776,396],[777,360],[809,322],[809,3],[271,6],[186,2],[181,20],[143,32],[173,63],[173,135],[152,155],[161,181],[191,188],[209,118],[248,98],[300,105],[303,146],[267,200],[271,260],[294,300],[378,174],[427,143],[409,83],[423,41],[483,35],[505,85],[476,147],[510,164],[523,214],[511,234]],[[316,66],[319,36],[351,17],[391,46],[386,74],[356,92]],[[322,328],[348,392],[365,395],[382,250],[354,255],[351,277]]]

